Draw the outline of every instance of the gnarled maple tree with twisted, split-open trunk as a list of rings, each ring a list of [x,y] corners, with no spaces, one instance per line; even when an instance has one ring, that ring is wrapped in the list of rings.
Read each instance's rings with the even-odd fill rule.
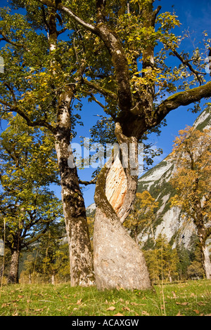
[[[53,6],[51,1],[40,0],[40,2]],[[83,71],[81,81],[87,86],[88,91],[91,88],[92,93],[99,93],[106,99],[107,104],[103,108],[115,122],[117,142],[120,145],[133,144],[136,150],[135,157],[137,141],[143,133],[160,124],[170,111],[180,105],[196,103],[201,98],[208,98],[211,95],[211,84],[206,82],[203,72],[205,64],[201,62],[199,50],[195,49],[193,55],[184,51],[179,52],[183,37],[177,37],[172,32],[175,26],[180,25],[177,16],[174,13],[161,13],[158,16],[161,7],[154,9],[154,2],[134,0],[129,3],[113,1],[111,4],[108,1],[98,0],[95,3],[87,1],[84,5],[84,1],[77,1],[78,7],[75,8],[74,2],[70,4],[69,1],[58,1],[58,9],[75,21],[75,24],[85,29],[89,34],[92,49],[93,45],[95,46],[93,54],[96,64],[94,65],[93,58],[86,58],[85,64],[89,65],[89,70]],[[94,15],[93,11],[95,11]],[[91,14],[88,18],[87,13]],[[155,55],[155,47],[158,43],[161,50]],[[177,58],[179,62],[177,67],[172,68],[167,65],[166,60],[170,55]],[[102,64],[102,60],[105,64]],[[169,93],[171,95],[166,96]],[[159,98],[161,102],[158,101]],[[111,162],[115,164],[115,159],[111,159]],[[125,278],[126,283],[123,283],[122,272],[129,271],[129,265],[134,268],[134,260],[125,261],[125,249],[122,247],[122,251],[118,249],[116,256],[113,253],[110,261],[110,256],[106,258],[108,246],[103,237],[106,237],[106,230],[113,228],[119,236],[119,242],[121,239],[127,240],[119,224],[124,223],[134,202],[137,176],[130,174],[130,168],[125,169],[127,190],[121,192],[124,200],[121,207],[117,207],[115,202],[110,204],[105,194],[110,163],[108,165],[101,171],[96,181],[96,230],[94,231],[96,282],[98,287],[118,286],[120,283],[126,287],[128,282]],[[120,180],[116,189],[121,189],[121,186]],[[110,223],[109,228],[103,226],[105,223]],[[118,240],[113,237],[113,241],[110,239],[110,249],[115,244],[118,245]],[[110,272],[108,267],[103,266],[105,258]],[[134,281],[139,269],[134,271]],[[142,272],[145,273],[143,277],[147,279],[147,272],[144,270]],[[130,277],[132,276],[130,272]]]

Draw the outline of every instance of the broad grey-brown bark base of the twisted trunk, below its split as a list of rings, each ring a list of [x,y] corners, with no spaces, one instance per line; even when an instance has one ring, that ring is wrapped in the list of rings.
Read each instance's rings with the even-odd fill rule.
[[[97,206],[94,225],[96,286],[105,289],[151,289],[143,253],[115,213]]]

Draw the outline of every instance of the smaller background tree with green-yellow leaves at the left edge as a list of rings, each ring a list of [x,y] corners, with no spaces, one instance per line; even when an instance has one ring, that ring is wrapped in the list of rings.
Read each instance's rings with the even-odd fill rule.
[[[52,140],[44,131],[29,128],[18,115],[10,117],[0,138],[0,235],[11,251],[8,281],[18,283],[21,251],[61,220],[62,210],[48,187],[58,180]]]

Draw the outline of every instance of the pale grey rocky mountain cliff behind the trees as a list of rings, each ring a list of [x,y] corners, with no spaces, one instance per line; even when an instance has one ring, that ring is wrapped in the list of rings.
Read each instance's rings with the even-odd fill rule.
[[[211,128],[211,107],[207,107],[196,119],[193,126],[196,129]],[[174,161],[169,157],[147,171],[139,179],[138,192],[148,190],[159,202],[159,209],[156,212],[153,232],[146,230],[140,233],[139,242],[141,246],[148,244],[151,239],[156,239],[158,235],[165,235],[167,241],[172,244],[172,248],[177,244],[184,244],[186,249],[191,248],[191,242],[196,232],[195,225],[188,221],[179,207],[170,208],[170,198],[174,195],[174,189],[169,180],[175,171]],[[87,207],[87,216],[94,216],[95,204]],[[210,244],[207,242],[207,244]]]

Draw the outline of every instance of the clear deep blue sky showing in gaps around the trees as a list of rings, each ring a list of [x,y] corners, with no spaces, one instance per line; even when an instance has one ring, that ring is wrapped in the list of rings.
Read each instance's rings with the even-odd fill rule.
[[[7,1],[1,0],[0,6],[6,6]],[[190,32],[190,38],[183,44],[182,49],[185,51],[192,51],[193,46],[203,47],[200,41],[203,41],[203,31],[207,31],[209,37],[211,37],[211,2],[209,0],[155,0],[154,6],[162,6],[161,12],[170,11],[173,8],[181,22],[181,27],[175,29],[175,33],[182,34],[186,29]],[[172,7],[174,6],[174,7]],[[210,45],[211,46],[211,45]],[[207,79],[209,76],[207,74]],[[203,105],[205,101],[201,103]],[[174,138],[178,135],[178,131],[186,127],[186,125],[192,126],[198,114],[193,114],[187,111],[188,107],[179,107],[177,110],[173,110],[167,115],[167,126],[162,127],[162,133],[159,137],[153,136],[151,138],[152,143],[155,147],[161,147],[163,150],[162,156],[155,160],[155,164],[164,159],[167,154],[172,151],[172,143]],[[84,102],[82,121],[84,126],[77,127],[77,138],[75,142],[79,141],[79,136],[89,137],[89,129],[98,119],[97,114],[103,114],[98,105],[93,103]],[[79,171],[79,176],[82,180],[89,180],[91,178],[91,171],[84,169]],[[90,185],[83,190],[84,200],[86,206],[94,202],[94,185]],[[56,194],[60,197],[60,188],[56,189]]]

